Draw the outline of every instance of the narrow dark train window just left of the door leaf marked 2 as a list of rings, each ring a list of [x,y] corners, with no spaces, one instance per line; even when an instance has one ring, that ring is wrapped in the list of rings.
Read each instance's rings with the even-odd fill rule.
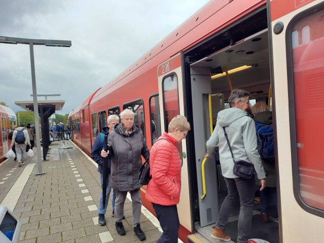
[[[160,106],[158,103],[158,94],[150,97],[150,123],[151,123],[151,142],[152,145],[156,139],[161,136]]]

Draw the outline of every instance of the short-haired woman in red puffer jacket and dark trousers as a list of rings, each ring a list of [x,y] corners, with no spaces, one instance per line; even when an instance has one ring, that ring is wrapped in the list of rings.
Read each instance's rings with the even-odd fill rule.
[[[168,133],[160,136],[151,148],[150,174],[145,197],[154,208],[156,217],[163,229],[157,240],[178,242],[180,227],[177,204],[181,191],[181,160],[177,144],[190,130],[190,124],[183,115],[177,115],[170,121]]]

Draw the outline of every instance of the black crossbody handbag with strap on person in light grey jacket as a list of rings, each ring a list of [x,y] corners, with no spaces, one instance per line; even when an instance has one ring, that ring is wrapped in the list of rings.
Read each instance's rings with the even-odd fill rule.
[[[223,127],[223,129],[224,129],[224,135],[225,135],[228,147],[229,147],[229,151],[231,151],[233,162],[234,162],[233,174],[235,176],[242,178],[242,179],[247,179],[247,180],[251,179],[254,174],[254,165],[248,161],[245,161],[245,160],[235,161],[231,145],[229,144],[229,141],[228,141],[226,130],[224,127]]]

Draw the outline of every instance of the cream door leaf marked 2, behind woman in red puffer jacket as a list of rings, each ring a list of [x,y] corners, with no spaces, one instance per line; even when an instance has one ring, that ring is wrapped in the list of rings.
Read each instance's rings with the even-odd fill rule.
[[[181,54],[161,63],[157,67],[159,107],[161,117],[161,132],[168,132],[168,125],[171,119],[184,114],[184,97],[182,83]],[[191,232],[191,214],[189,198],[189,180],[187,165],[186,140],[183,139],[178,145],[179,155],[182,161],[181,168],[181,194],[178,204],[180,224]],[[180,234],[183,229],[180,226]]]

